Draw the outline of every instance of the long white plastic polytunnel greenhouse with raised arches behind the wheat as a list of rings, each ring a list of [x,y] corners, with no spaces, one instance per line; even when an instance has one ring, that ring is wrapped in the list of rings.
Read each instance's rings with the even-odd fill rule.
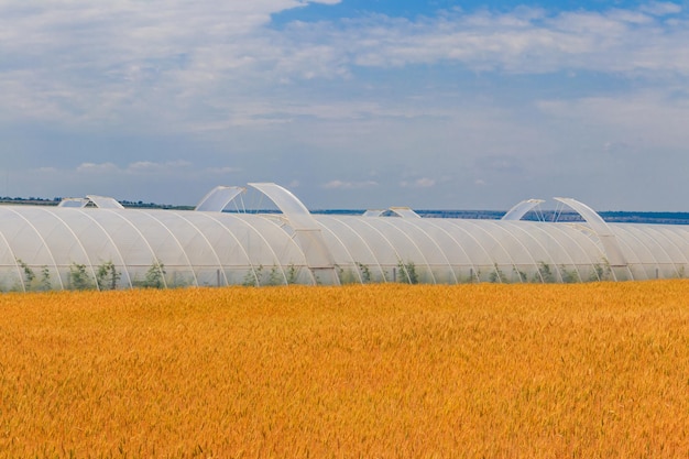
[[[317,215],[287,189],[250,184],[280,209],[225,211],[217,187],[195,210],[125,209],[112,198],[0,206],[0,291],[347,283],[590,282],[682,277],[689,228],[609,223],[556,198],[581,222],[420,218],[408,208]]]

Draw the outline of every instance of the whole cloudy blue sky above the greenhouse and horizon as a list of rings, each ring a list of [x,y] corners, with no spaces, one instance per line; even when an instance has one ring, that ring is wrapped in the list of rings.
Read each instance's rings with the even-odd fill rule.
[[[0,0],[0,196],[689,211],[689,2]]]

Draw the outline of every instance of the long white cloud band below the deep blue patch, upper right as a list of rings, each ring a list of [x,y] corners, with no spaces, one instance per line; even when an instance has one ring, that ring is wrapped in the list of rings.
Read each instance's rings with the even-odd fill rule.
[[[520,74],[566,68],[617,73],[633,70],[689,74],[689,59],[650,58],[648,50],[689,53],[683,23],[668,25],[639,10],[561,12],[539,11],[460,13],[425,22],[389,20],[381,28],[348,30],[356,63],[362,66],[404,66],[458,62],[477,70]],[[342,40],[343,42],[344,40]],[[643,58],[642,58],[643,57]]]

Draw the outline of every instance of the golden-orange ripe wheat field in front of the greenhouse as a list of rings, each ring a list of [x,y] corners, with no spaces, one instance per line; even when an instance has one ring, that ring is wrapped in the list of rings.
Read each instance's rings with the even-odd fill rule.
[[[0,457],[689,457],[689,282],[0,296]]]

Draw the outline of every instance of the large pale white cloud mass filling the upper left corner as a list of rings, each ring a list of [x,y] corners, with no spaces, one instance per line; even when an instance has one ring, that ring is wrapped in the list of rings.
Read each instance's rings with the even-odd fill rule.
[[[2,2],[0,101],[11,112],[0,117],[102,123],[124,121],[128,112],[152,119],[151,112],[165,124],[189,103],[214,100],[208,95],[266,75],[267,67],[304,76],[314,59],[300,66],[303,57],[294,58],[292,69],[281,64],[285,50],[264,28],[271,14],[307,3]]]

